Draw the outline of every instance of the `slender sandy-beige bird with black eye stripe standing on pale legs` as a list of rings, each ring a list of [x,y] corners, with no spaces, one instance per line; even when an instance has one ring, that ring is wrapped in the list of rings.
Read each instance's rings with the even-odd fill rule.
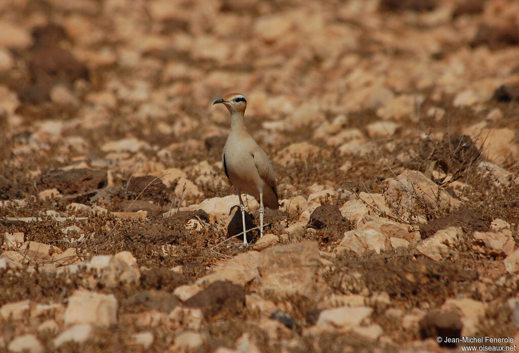
[[[264,205],[273,210],[279,208],[276,175],[268,155],[245,127],[244,114],[247,100],[243,94],[229,93],[224,98],[214,101],[214,104],[225,105],[230,113],[230,130],[222,153],[222,164],[225,175],[236,188],[240,200],[243,243],[246,245],[245,205],[241,193],[252,195],[260,200],[260,238],[262,238]]]

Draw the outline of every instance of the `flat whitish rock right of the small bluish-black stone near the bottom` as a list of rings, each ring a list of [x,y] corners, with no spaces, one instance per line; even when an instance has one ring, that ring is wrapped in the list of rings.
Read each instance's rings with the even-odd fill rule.
[[[359,326],[371,313],[373,313],[373,308],[366,306],[326,309],[319,314],[316,325],[331,328],[353,328]]]

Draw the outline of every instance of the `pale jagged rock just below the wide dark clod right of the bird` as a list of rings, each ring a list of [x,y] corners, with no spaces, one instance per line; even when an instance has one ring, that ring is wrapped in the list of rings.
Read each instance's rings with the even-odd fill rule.
[[[438,230],[432,237],[420,241],[416,246],[416,251],[430,259],[440,261],[452,251],[452,247],[462,235],[461,227],[448,227]]]

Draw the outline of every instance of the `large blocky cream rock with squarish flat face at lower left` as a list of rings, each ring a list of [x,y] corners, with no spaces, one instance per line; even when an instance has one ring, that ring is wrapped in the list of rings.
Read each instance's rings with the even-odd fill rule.
[[[113,294],[76,290],[69,297],[65,324],[94,324],[108,327],[117,323],[117,300]]]

